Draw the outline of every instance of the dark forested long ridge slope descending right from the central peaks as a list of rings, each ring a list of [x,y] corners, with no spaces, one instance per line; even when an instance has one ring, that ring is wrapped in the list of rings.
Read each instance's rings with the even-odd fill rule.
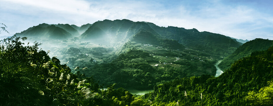
[[[209,52],[218,56],[227,56],[241,46],[235,39],[211,32],[199,32],[197,29],[178,27],[159,27],[153,23],[147,24],[162,37],[178,40],[188,48]]]

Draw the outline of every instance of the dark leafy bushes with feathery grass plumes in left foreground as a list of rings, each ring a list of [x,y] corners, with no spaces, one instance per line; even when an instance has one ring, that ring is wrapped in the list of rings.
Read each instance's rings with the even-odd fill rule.
[[[23,46],[12,37],[1,40],[0,105],[130,105],[141,102],[127,90],[107,90],[91,77],[72,74],[56,57],[40,50],[39,43]],[[132,102],[132,103],[131,103]]]

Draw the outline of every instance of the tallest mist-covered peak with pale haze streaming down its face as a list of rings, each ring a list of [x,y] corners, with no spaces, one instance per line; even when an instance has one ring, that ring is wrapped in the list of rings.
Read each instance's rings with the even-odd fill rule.
[[[89,27],[83,34],[82,39],[88,39],[93,42],[100,42],[104,44],[126,42],[128,38],[133,36],[132,31],[127,32],[134,24],[130,20],[104,20],[97,21]],[[102,42],[104,41],[104,42]]]

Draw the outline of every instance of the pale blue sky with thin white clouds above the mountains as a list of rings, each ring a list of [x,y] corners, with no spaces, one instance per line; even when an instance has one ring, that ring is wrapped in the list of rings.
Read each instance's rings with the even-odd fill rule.
[[[0,23],[13,35],[41,23],[81,26],[129,19],[196,28],[226,36],[273,40],[272,0],[0,0]]]

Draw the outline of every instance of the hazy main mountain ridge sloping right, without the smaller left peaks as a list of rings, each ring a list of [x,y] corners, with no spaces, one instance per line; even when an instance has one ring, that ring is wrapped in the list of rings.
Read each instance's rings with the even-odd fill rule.
[[[139,35],[139,33],[146,35]],[[93,42],[103,43],[102,41],[106,41],[105,44],[126,42],[128,39],[141,39],[141,41],[137,41],[142,43],[145,40],[145,43],[153,43],[156,39],[173,39],[188,48],[215,54],[219,57],[231,54],[242,44],[221,34],[199,32],[197,29],[159,27],[149,22],[133,22],[126,19],[97,21],[80,37]]]

